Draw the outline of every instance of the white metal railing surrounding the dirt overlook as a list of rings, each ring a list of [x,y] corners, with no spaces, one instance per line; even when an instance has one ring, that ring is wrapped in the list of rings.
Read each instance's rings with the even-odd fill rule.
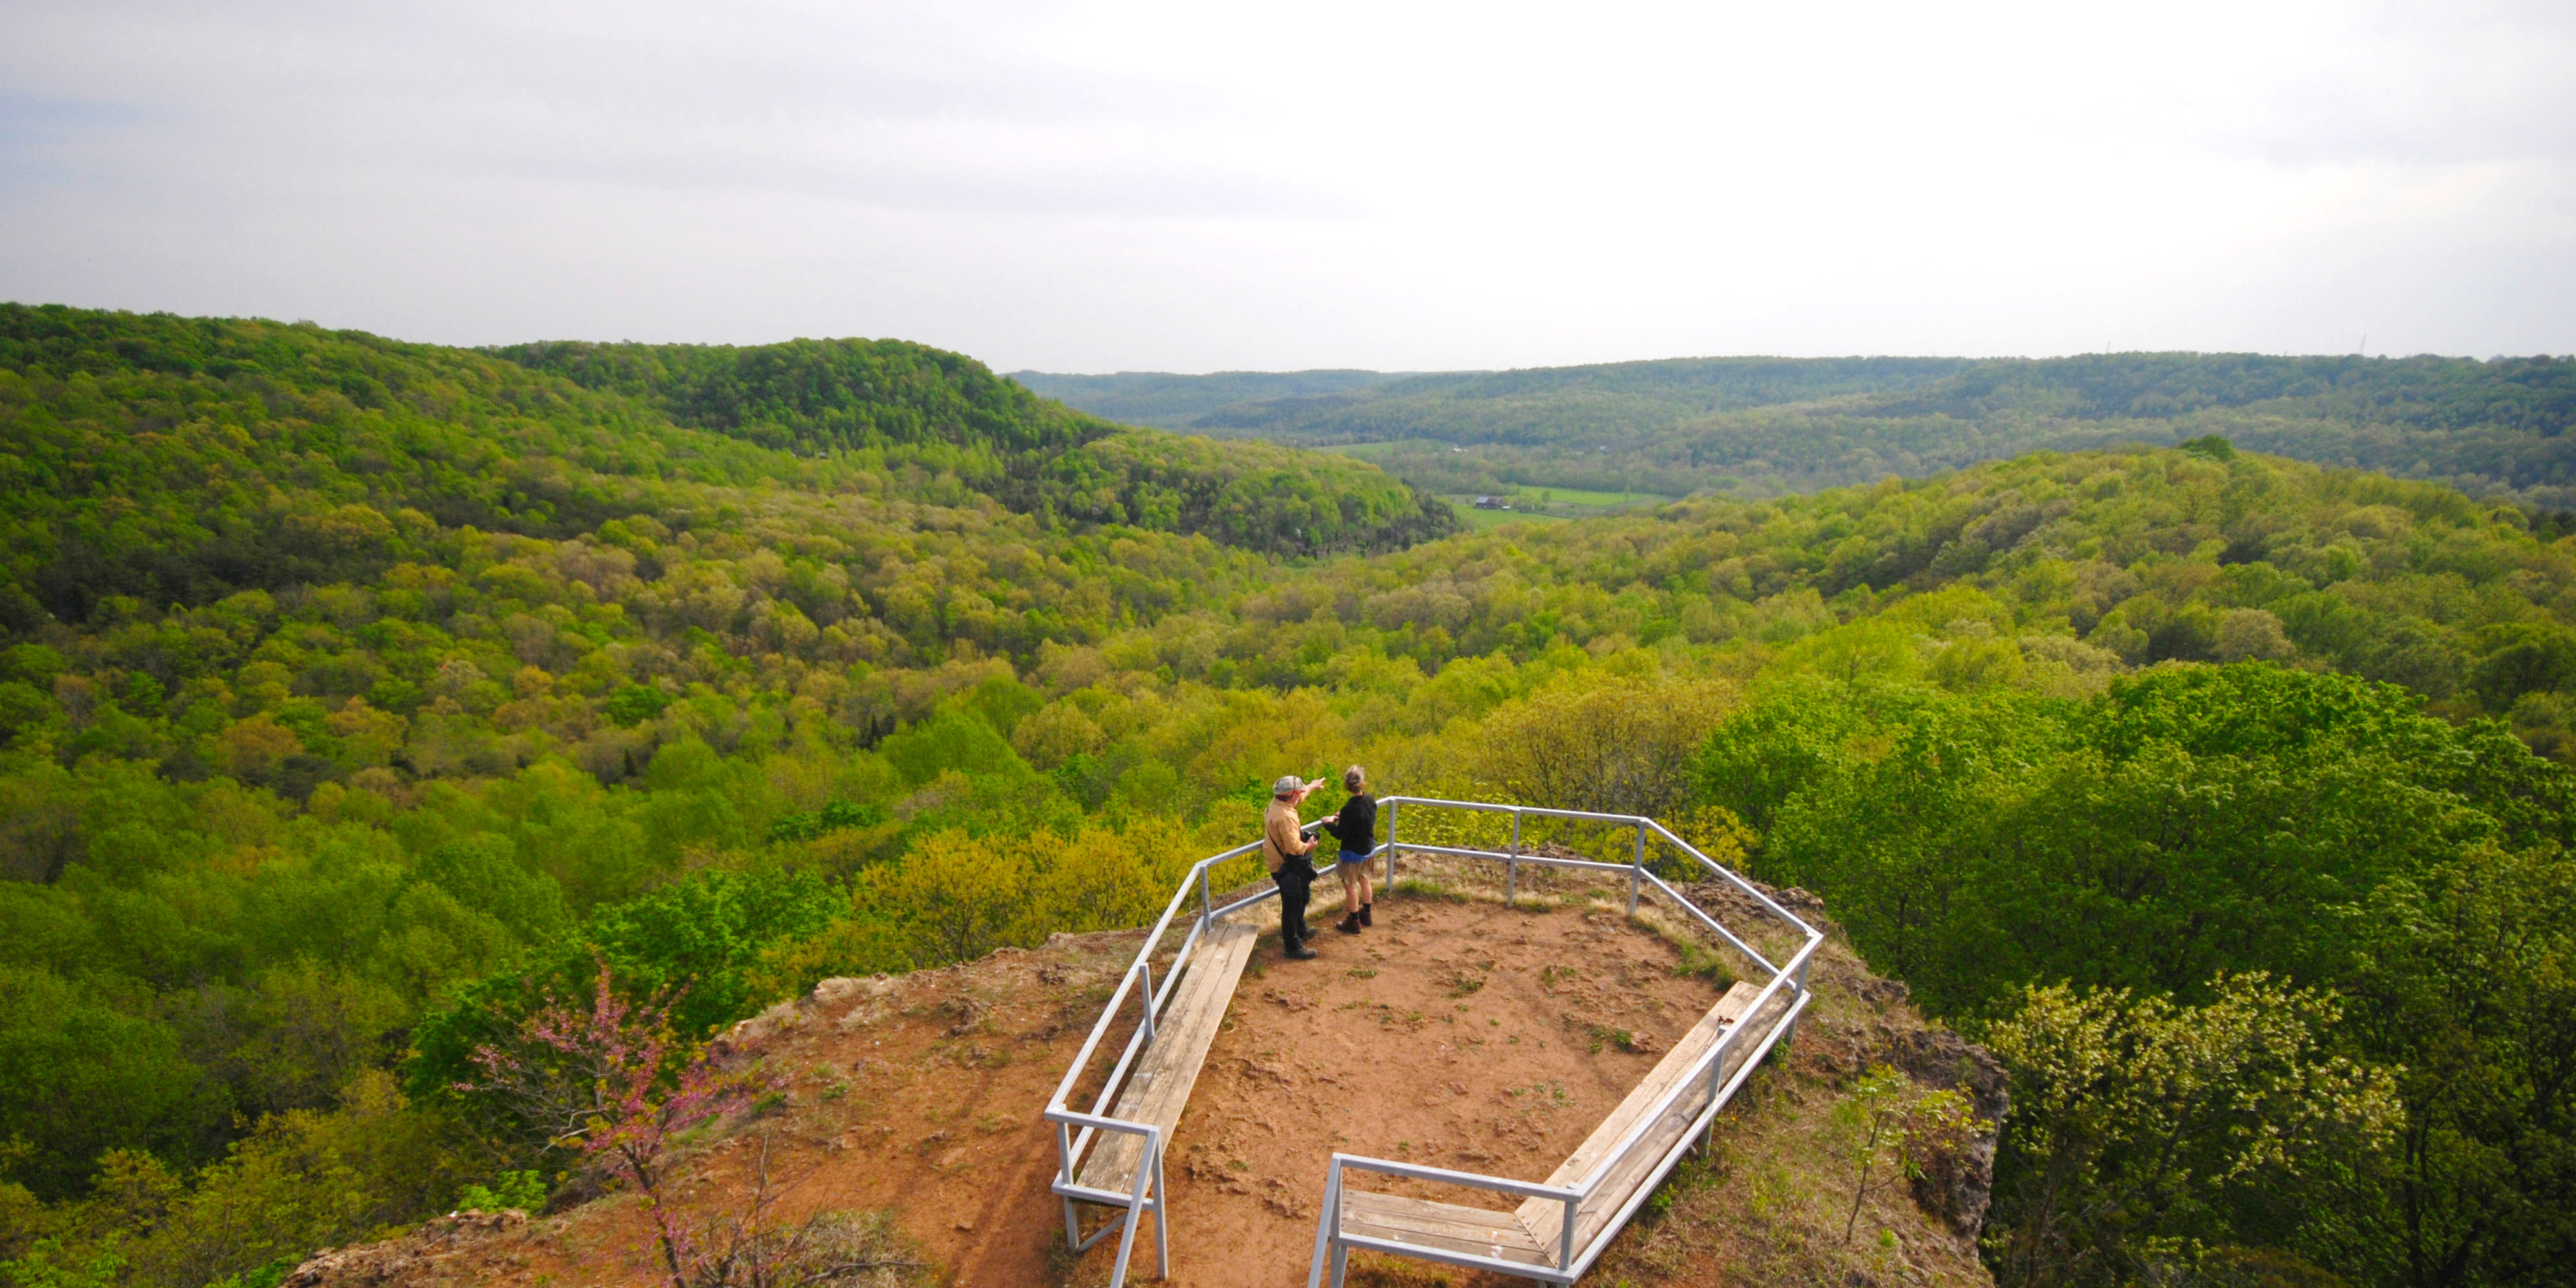
[[[1522,1275],[1522,1278],[1533,1278],[1535,1275],[1535,1278],[1543,1278],[1543,1280],[1551,1280],[1551,1283],[1574,1283],[1577,1278],[1582,1278],[1584,1270],[1592,1267],[1592,1262],[1602,1255],[1602,1249],[1610,1244],[1610,1239],[1628,1224],[1628,1218],[1636,1213],[1638,1203],[1643,1203],[1646,1195],[1654,1193],[1656,1185],[1662,1185],[1664,1175],[1669,1175],[1672,1167],[1682,1159],[1682,1154],[1690,1149],[1692,1139],[1716,1131],[1718,1113],[1726,1108],[1728,1100],[1734,1100],[1736,1090],[1744,1084],[1747,1077],[1752,1077],[1754,1066],[1762,1064],[1762,1056],[1767,1056],[1772,1046],[1777,1046],[1780,1041],[1788,1041],[1795,1033],[1798,1015],[1806,1012],[1806,1007],[1808,1007],[1808,989],[1806,989],[1808,961],[1814,958],[1816,945],[1824,943],[1824,933],[1819,933],[1816,927],[1811,927],[1803,920],[1798,920],[1793,912],[1788,912],[1785,907],[1780,907],[1772,896],[1762,894],[1759,886],[1744,881],[1741,876],[1736,876],[1726,866],[1721,866],[1721,863],[1710,860],[1708,855],[1703,855],[1698,848],[1692,848],[1682,837],[1672,835],[1664,824],[1659,824],[1654,819],[1646,819],[1646,817],[1638,817],[1638,814],[1592,814],[1592,811],[1582,811],[1582,809],[1540,809],[1540,806],[1512,806],[1512,804],[1492,804],[1492,801],[1443,801],[1443,799],[1432,799],[1432,796],[1386,796],[1378,804],[1386,806],[1386,842],[1378,845],[1376,850],[1370,850],[1370,855],[1381,855],[1381,853],[1386,855],[1386,884],[1388,886],[1394,886],[1396,878],[1399,878],[1399,868],[1401,868],[1404,853],[1450,855],[1450,858],[1502,863],[1504,866],[1504,899],[1517,899],[1520,866],[1525,866],[1525,863],[1528,866],[1540,866],[1540,868],[1574,868],[1574,871],[1628,873],[1628,914],[1636,914],[1636,904],[1638,904],[1638,896],[1643,894],[1643,889],[1654,886],[1659,894],[1664,894],[1667,899],[1672,899],[1674,907],[1680,907],[1682,912],[1687,912],[1698,925],[1703,925],[1710,933],[1716,933],[1726,945],[1731,945],[1736,953],[1741,953],[1744,958],[1749,958],[1767,976],[1762,992],[1754,997],[1752,1007],[1747,1007],[1744,1018],[1739,1023],[1728,1025],[1726,1033],[1718,1038],[1718,1043],[1705,1056],[1700,1056],[1698,1061],[1692,1061],[1690,1077],[1677,1079],[1672,1084],[1672,1090],[1667,1090],[1651,1105],[1649,1113],[1638,1115],[1638,1121],[1620,1136],[1618,1146],[1613,1146],[1610,1151],[1605,1151],[1602,1159],[1595,1162],[1592,1170],[1579,1182],[1574,1182],[1574,1185],[1535,1185],[1535,1182],[1528,1182],[1528,1180],[1492,1177],[1492,1175],[1481,1175],[1481,1172],[1458,1172],[1458,1170],[1448,1170],[1448,1167],[1425,1167],[1425,1164],[1394,1162],[1394,1159],[1370,1159],[1370,1157],[1360,1157],[1360,1154],[1334,1154],[1332,1157],[1332,1167],[1324,1175],[1324,1213],[1316,1221],[1314,1265],[1309,1270],[1309,1288],[1321,1288],[1327,1265],[1332,1270],[1332,1283],[1340,1285],[1342,1283],[1345,1260],[1347,1260],[1347,1255],[1350,1255],[1352,1247],[1376,1249],[1376,1252],[1396,1252],[1396,1255],[1406,1255],[1406,1257],[1422,1257],[1422,1260],[1435,1260],[1435,1262],[1448,1262],[1448,1265],[1461,1265],[1461,1267],[1499,1270],[1499,1273]],[[1406,804],[1417,806],[1417,809],[1463,809],[1463,811],[1510,814],[1512,817],[1512,842],[1510,842],[1510,850],[1479,850],[1479,848],[1466,848],[1466,845],[1399,842],[1399,835],[1396,835],[1399,809],[1406,806]],[[1525,824],[1525,819],[1566,819],[1566,822],[1592,822],[1592,824],[1607,824],[1607,827],[1633,827],[1636,829],[1636,850],[1633,850],[1633,858],[1628,863],[1600,863],[1600,860],[1589,860],[1589,858],[1561,858],[1561,855],[1530,855],[1530,853],[1522,853],[1522,824]],[[1306,824],[1303,835],[1314,835],[1316,827],[1319,824]],[[1664,881],[1662,876],[1656,876],[1654,871],[1649,871],[1649,863],[1646,863],[1646,840],[1649,840],[1649,832],[1654,837],[1664,840],[1667,845],[1672,845],[1674,850],[1680,850],[1682,855],[1687,855],[1692,863],[1698,863],[1708,873],[1728,881],[1741,894],[1747,894],[1749,899],[1754,899],[1765,912],[1770,912],[1772,917],[1777,917],[1780,922],[1785,922],[1788,927],[1793,927],[1803,938],[1803,943],[1798,945],[1798,951],[1790,953],[1790,958],[1785,963],[1772,963],[1767,956],[1762,956],[1762,951],[1757,951],[1754,945],[1744,943],[1744,938],[1739,938],[1734,930],[1728,930],[1723,922],[1718,922],[1718,917],[1713,917],[1708,909],[1692,904],[1669,881]],[[1172,999],[1172,992],[1175,992],[1175,987],[1180,981],[1182,966],[1188,963],[1190,953],[1198,948],[1200,938],[1206,938],[1208,927],[1218,917],[1249,909],[1249,907],[1255,907],[1255,904],[1260,904],[1265,899],[1278,896],[1278,886],[1273,884],[1270,889],[1262,889],[1262,891],[1257,891],[1252,896],[1244,896],[1244,899],[1236,899],[1231,904],[1216,907],[1213,891],[1208,889],[1208,871],[1211,868],[1216,868],[1218,863],[1229,863],[1234,858],[1244,858],[1249,853],[1257,853],[1260,848],[1262,848],[1262,842],[1252,842],[1252,845],[1239,845],[1234,850],[1226,850],[1221,855],[1208,855],[1208,858],[1198,860],[1190,868],[1188,876],[1182,876],[1180,889],[1172,891],[1172,902],[1162,909],[1162,920],[1154,922],[1154,930],[1146,933],[1144,945],[1136,948],[1136,961],[1131,961],[1128,969],[1118,976],[1118,989],[1110,992],[1108,1005],[1100,1010],[1100,1020],[1092,1023],[1090,1038],[1084,1038],[1082,1051],[1074,1054],[1072,1066],[1064,1072],[1064,1082],[1056,1084],[1056,1095],[1048,1100],[1046,1121],[1056,1126],[1056,1180],[1054,1180],[1051,1190],[1056,1195],[1061,1195],[1061,1200],[1064,1200],[1064,1239],[1066,1239],[1066,1244],[1072,1244],[1074,1252],[1084,1252],[1092,1244],[1097,1244],[1103,1236],[1108,1236],[1113,1229],[1123,1229],[1123,1234],[1118,1239],[1118,1262],[1110,1270],[1110,1285],[1113,1288],[1118,1288],[1121,1283],[1126,1283],[1128,1257],[1131,1257],[1133,1244],[1136,1244],[1136,1224],[1144,1218],[1144,1213],[1154,1216],[1157,1275],[1170,1275],[1170,1226],[1164,1221],[1162,1154],[1164,1154],[1164,1144],[1167,1141],[1162,1139],[1162,1128],[1157,1128],[1151,1123],[1128,1123],[1128,1121],[1121,1121],[1121,1118],[1110,1118],[1108,1108],[1115,1100],[1115,1095],[1118,1095],[1118,1090],[1121,1090],[1128,1069],[1144,1054],[1146,1043],[1154,1041],[1154,1015],[1162,1012],[1162,1007]],[[1157,992],[1154,989],[1154,963],[1151,963],[1154,961],[1154,951],[1162,945],[1164,935],[1172,930],[1175,917],[1180,914],[1182,904],[1190,896],[1190,886],[1198,886],[1198,914],[1193,917],[1190,933],[1182,938],[1180,951],[1164,966],[1162,989]],[[1118,1056],[1115,1066],[1110,1069],[1108,1079],[1100,1084],[1097,1100],[1092,1103],[1092,1108],[1087,1113],[1069,1108],[1066,1100],[1072,1097],[1074,1084],[1082,1079],[1082,1072],[1092,1064],[1092,1056],[1100,1051],[1100,1043],[1108,1038],[1110,1028],[1118,1020],[1118,1012],[1126,1007],[1128,994],[1139,984],[1144,984],[1144,987],[1139,992],[1139,1007],[1141,1010],[1139,1010],[1136,1028],[1128,1036],[1126,1048],[1121,1051],[1121,1056]],[[1767,1023],[1767,1025],[1759,1023],[1759,1018],[1772,1007],[1772,1002],[1777,1002],[1783,997],[1783,992],[1790,994],[1788,1005],[1780,1010],[1780,1015],[1772,1023]],[[1757,1036],[1749,1036],[1749,1033],[1757,1033]],[[1728,1056],[1736,1054],[1736,1051],[1744,1051],[1747,1043],[1752,1043],[1747,1059],[1728,1077],[1726,1074]],[[1708,1103],[1695,1108],[1692,1121],[1690,1121],[1690,1131],[1682,1131],[1674,1139],[1674,1144],[1667,1146],[1664,1154],[1656,1159],[1654,1170],[1649,1175],[1643,1175],[1643,1180],[1631,1193],[1623,1195],[1623,1203],[1620,1203],[1618,1213],[1613,1213],[1613,1218],[1607,1224],[1602,1224],[1602,1229],[1592,1239],[1587,1239],[1582,1247],[1577,1247],[1574,1236],[1579,1231],[1584,1206],[1592,1198],[1600,1195],[1602,1185],[1607,1182],[1610,1175],[1615,1175],[1620,1170],[1620,1164],[1633,1162],[1631,1154],[1641,1146],[1641,1141],[1646,1141],[1649,1131],[1654,1131],[1656,1123],[1667,1121],[1685,1100],[1698,1097],[1703,1087],[1705,1087]],[[1079,1175],[1084,1151],[1095,1146],[1095,1141],[1100,1139],[1103,1131],[1115,1131],[1115,1133],[1128,1133],[1128,1136],[1144,1136],[1144,1154],[1136,1162],[1136,1177],[1133,1177],[1133,1185],[1131,1185],[1128,1193],[1100,1190],[1100,1188],[1079,1185],[1074,1180]],[[1502,1260],[1502,1257],[1479,1257],[1479,1255],[1471,1255],[1471,1252],[1453,1252],[1453,1249],[1425,1247],[1425,1244],[1399,1244],[1399,1242],[1373,1239],[1373,1236],[1365,1236],[1365,1234],[1350,1234],[1350,1231],[1342,1229],[1342,1188],[1345,1188],[1342,1177],[1345,1177],[1345,1172],[1376,1172],[1376,1175],[1391,1175],[1391,1177],[1412,1177],[1412,1180],[1430,1180],[1430,1182],[1461,1185],[1461,1188],[1473,1188],[1473,1190],[1492,1190],[1492,1193],[1502,1193],[1502,1195],[1561,1200],[1564,1203],[1564,1221],[1561,1221],[1558,1236],[1553,1239],[1556,1265],[1553,1267],[1535,1267],[1535,1265],[1528,1265],[1528,1262],[1512,1262],[1512,1260]],[[1103,1206],[1126,1208],[1126,1218],[1123,1221],[1113,1221],[1113,1224],[1092,1231],[1092,1236],[1084,1239],[1082,1236],[1079,1213],[1074,1208],[1077,1200],[1079,1203],[1103,1203]],[[1494,1213],[1494,1216],[1497,1218],[1512,1218],[1510,1213]],[[1535,1236],[1535,1231],[1533,1231],[1533,1236]]]

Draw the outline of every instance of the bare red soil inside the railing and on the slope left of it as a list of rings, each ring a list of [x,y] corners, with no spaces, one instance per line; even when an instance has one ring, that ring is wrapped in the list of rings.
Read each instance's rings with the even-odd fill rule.
[[[788,1100],[706,1144],[677,1182],[683,1203],[742,1211],[765,1141],[775,1218],[891,1208],[948,1283],[1103,1280],[1108,1242],[1079,1265],[1061,1252],[1041,1110],[1139,940],[1059,938],[827,981],[744,1023],[732,1043],[788,1077]],[[1285,961],[1265,938],[1208,1054],[1170,1159],[1175,1285],[1303,1283],[1334,1149],[1543,1180],[1721,994],[1677,976],[1677,951],[1651,930],[1602,912],[1394,896],[1373,930],[1327,933],[1319,948],[1319,961]],[[657,1275],[639,1203],[611,1198],[440,1242],[399,1275],[350,1265],[322,1283],[343,1278]],[[1151,1229],[1131,1278],[1151,1278]]]

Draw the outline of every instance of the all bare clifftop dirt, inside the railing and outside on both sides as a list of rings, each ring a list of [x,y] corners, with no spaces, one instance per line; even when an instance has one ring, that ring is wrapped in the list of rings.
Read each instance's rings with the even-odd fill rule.
[[[1685,953],[1664,933],[1587,904],[1574,884],[1525,876],[1522,889],[1533,886],[1540,904],[1561,907],[1381,896],[1378,925],[1358,938],[1327,930],[1316,961],[1285,961],[1262,935],[1172,1141],[1170,1283],[1301,1285],[1334,1149],[1546,1180],[1723,994],[1723,976],[1677,971]],[[1314,922],[1332,917],[1319,907]],[[672,1188],[688,1224],[739,1221],[765,1151],[773,1224],[889,1211],[940,1283],[1105,1283],[1108,1239],[1079,1260],[1064,1252],[1061,1206],[1048,1193],[1056,1146],[1041,1110],[1139,943],[1141,933],[1059,935],[966,966],[835,979],[737,1025],[726,1036],[734,1059],[757,1059],[786,1079],[786,1095],[690,1146]],[[1904,1270],[1855,1260],[1868,1249],[1819,1236],[1832,1177],[1772,1175],[1772,1154],[1821,1157],[1806,1136],[1821,1131],[1834,1084],[1924,1038],[1904,989],[1873,981],[1842,953],[1819,987],[1826,1007],[1821,1028],[1801,1033],[1798,1072],[1762,1092],[1759,1110],[1747,1108],[1780,1144],[1747,1151],[1747,1133],[1713,1162],[1692,1162],[1690,1177],[1677,1177],[1674,1216],[1631,1229],[1597,1273],[1602,1283],[1991,1283],[1973,1234],[1947,1234],[1904,1198],[1870,1203],[1904,1236],[1904,1252],[1891,1255]],[[1110,1051],[1123,1036],[1110,1036]],[[1917,1064],[1960,1064],[1947,1046],[1935,1056]],[[1504,1206],[1406,1185],[1383,1182]],[[1772,1190],[1814,1190],[1819,1213],[1806,1213],[1803,1198],[1772,1203]],[[1839,1208],[1832,1216],[1839,1229]],[[1090,1221],[1100,1218],[1095,1208]],[[1154,1273],[1151,1226],[1141,1234],[1131,1283]],[[538,1221],[433,1221],[309,1262],[291,1283],[641,1285],[665,1280],[652,1247],[641,1203],[611,1195]],[[1373,1262],[1355,1257],[1352,1283],[1484,1283]],[[1847,1278],[1844,1262],[1862,1278]]]

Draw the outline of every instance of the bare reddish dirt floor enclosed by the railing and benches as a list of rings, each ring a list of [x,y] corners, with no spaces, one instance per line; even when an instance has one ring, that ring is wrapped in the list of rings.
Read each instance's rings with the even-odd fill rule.
[[[1399,896],[1376,917],[1244,971],[1172,1139],[1175,1285],[1303,1285],[1334,1149],[1548,1180],[1726,992],[1610,912]]]

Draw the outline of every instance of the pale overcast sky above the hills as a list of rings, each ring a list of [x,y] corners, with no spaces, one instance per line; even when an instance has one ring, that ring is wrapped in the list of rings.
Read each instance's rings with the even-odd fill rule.
[[[2571,353],[2571,72],[2568,0],[0,0],[0,299],[1002,371]]]

